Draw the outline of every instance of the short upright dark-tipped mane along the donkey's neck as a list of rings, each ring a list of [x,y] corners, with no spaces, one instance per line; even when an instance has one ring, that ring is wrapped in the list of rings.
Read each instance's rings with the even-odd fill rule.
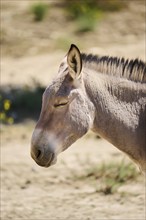
[[[83,65],[108,75],[140,83],[146,83],[146,63],[139,59],[129,60],[111,56],[82,53]]]

